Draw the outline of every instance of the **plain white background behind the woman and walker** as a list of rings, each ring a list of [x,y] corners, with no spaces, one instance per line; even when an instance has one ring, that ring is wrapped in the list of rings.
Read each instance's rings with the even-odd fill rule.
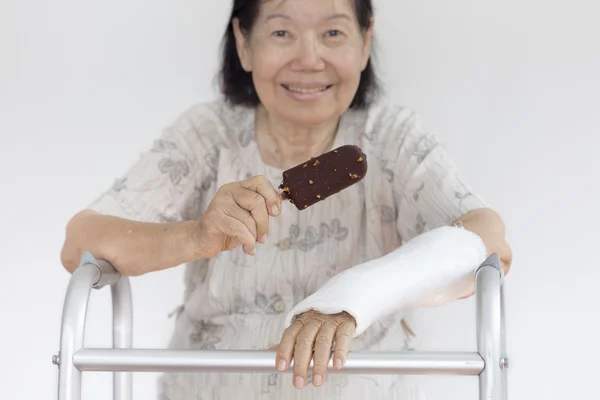
[[[3,399],[53,399],[64,226],[179,113],[210,100],[230,1],[0,0]],[[510,399],[598,398],[600,14],[595,0],[376,1],[392,99],[439,132],[503,215]],[[164,347],[182,268],[133,280],[136,347]],[[110,344],[108,291],[87,346]],[[433,324],[439,324],[435,329]],[[474,350],[474,302],[421,313],[421,349]],[[136,374],[152,399],[155,374]],[[475,399],[475,378],[423,378]],[[108,374],[84,375],[108,399]]]

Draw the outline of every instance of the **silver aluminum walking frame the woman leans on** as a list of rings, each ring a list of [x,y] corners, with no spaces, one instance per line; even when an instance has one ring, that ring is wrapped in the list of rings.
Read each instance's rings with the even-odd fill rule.
[[[497,254],[475,272],[477,352],[357,352],[348,356],[342,370],[329,373],[478,376],[480,400],[506,400],[503,279]],[[104,286],[111,288],[113,348],[84,348],[89,296],[92,289]],[[133,349],[132,319],[129,279],[85,253],[67,287],[60,351],[52,359],[59,370],[58,400],[81,400],[86,371],[113,372],[114,400],[132,400],[132,372],[278,372],[273,351]]]

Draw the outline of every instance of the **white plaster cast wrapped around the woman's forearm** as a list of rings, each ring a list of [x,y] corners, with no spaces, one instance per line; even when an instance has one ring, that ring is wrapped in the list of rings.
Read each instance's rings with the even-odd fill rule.
[[[486,256],[485,244],[473,232],[458,227],[431,230],[335,275],[288,313],[286,326],[306,311],[346,311],[356,319],[354,337],[359,336],[402,309],[442,305],[471,294],[474,272]]]

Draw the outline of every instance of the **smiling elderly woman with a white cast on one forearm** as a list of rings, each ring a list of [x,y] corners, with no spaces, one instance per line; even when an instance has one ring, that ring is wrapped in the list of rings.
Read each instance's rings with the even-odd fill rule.
[[[491,253],[509,268],[500,217],[413,112],[377,96],[373,26],[370,0],[235,0],[223,98],[69,222],[69,271],[82,250],[129,276],[187,264],[171,348],[294,360],[291,381],[166,374],[161,398],[417,398],[398,376],[327,376],[332,354],[339,369],[349,351],[406,350],[407,310],[471,295]],[[285,169],[345,144],[364,179],[306,210],[283,200]]]

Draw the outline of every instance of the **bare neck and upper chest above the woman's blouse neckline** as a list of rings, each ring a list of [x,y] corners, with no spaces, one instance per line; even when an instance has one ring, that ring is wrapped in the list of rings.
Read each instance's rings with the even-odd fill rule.
[[[256,111],[256,137],[265,163],[288,169],[333,146],[339,120],[319,126],[297,126],[269,115],[262,106]]]

